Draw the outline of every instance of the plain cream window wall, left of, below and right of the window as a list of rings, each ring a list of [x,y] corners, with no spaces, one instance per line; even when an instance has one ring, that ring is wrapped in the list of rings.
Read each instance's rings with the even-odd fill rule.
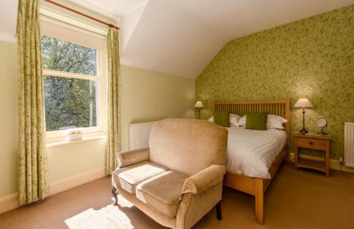
[[[165,117],[194,117],[195,81],[122,66],[122,149],[129,123]],[[0,198],[17,192],[16,44],[0,41]],[[106,140],[47,150],[50,183],[104,167]]]

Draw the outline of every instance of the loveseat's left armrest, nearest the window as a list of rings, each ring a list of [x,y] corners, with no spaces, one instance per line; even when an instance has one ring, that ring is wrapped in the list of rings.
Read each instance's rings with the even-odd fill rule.
[[[149,153],[149,147],[118,152],[118,166],[121,168],[149,160]]]

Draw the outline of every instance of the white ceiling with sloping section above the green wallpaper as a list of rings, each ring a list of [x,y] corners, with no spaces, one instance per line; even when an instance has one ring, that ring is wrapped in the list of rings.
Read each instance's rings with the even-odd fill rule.
[[[123,65],[196,78],[229,41],[354,0],[70,0],[120,21]],[[0,40],[13,38],[17,1],[1,0]]]

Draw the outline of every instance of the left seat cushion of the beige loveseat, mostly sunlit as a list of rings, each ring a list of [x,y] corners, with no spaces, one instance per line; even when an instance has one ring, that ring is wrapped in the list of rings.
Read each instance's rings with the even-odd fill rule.
[[[135,194],[135,189],[138,184],[151,177],[166,172],[167,170],[169,170],[169,168],[164,167],[163,165],[144,161],[129,165],[127,167],[115,169],[112,177],[116,185],[131,194]]]

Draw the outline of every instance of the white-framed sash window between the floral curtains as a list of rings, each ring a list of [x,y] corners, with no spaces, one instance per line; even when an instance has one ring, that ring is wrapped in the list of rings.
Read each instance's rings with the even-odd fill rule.
[[[57,30],[59,33],[53,29],[43,33],[49,25],[41,23],[44,23],[40,39],[47,138],[63,137],[68,128],[82,128],[84,134],[102,133],[106,91],[102,67],[104,46],[91,45],[87,43],[90,35],[62,26]],[[84,42],[60,32],[67,35],[75,32],[72,35],[81,35]]]

